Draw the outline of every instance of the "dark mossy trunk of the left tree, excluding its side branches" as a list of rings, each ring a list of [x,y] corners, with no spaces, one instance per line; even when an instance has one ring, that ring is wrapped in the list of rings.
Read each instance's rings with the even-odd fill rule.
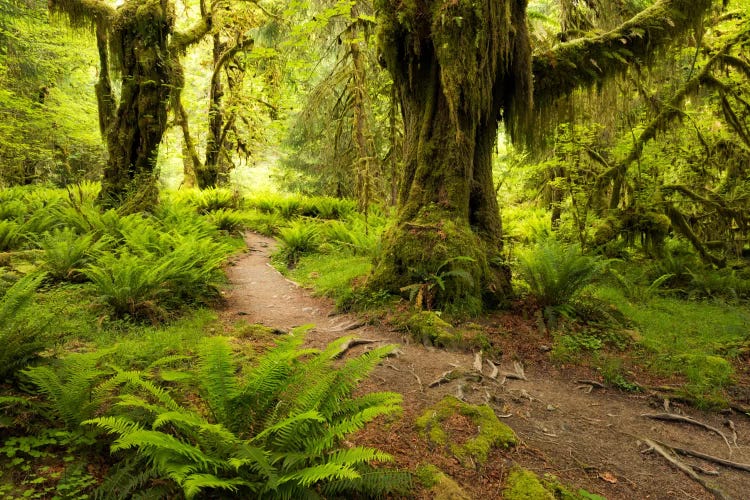
[[[120,102],[107,131],[109,162],[99,194],[103,206],[133,212],[158,197],[156,157],[171,91],[166,0],[130,0],[117,10],[110,46],[122,74]]]

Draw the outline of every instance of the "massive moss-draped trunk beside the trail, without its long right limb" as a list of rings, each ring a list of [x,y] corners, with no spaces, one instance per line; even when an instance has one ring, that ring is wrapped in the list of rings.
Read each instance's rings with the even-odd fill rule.
[[[531,106],[525,2],[381,1],[380,46],[404,117],[398,222],[369,283],[425,283],[437,307],[505,302],[502,224],[492,181],[498,119]]]

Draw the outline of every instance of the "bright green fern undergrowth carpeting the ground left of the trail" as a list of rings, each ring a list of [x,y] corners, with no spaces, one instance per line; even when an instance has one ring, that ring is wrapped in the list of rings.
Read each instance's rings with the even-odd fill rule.
[[[409,489],[408,474],[381,467],[385,453],[341,446],[399,411],[397,395],[351,395],[388,348],[333,366],[340,345],[304,349],[301,334],[224,325],[210,309],[222,300],[224,263],[257,214],[269,234],[290,217],[319,224],[326,236],[315,255],[346,248],[360,263],[324,280],[330,293],[351,296],[377,242],[369,229],[349,234],[363,227],[351,202],[290,202],[266,213],[234,191],[183,190],[162,193],[153,213],[120,215],[99,210],[97,191],[0,190],[0,497]]]

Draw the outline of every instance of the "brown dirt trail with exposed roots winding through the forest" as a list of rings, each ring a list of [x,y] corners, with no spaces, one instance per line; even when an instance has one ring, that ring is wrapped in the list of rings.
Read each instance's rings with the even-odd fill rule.
[[[459,381],[434,388],[430,382],[455,367],[471,370],[472,353],[450,352],[409,343],[401,333],[387,325],[364,325],[352,314],[334,314],[326,299],[312,297],[284,278],[269,264],[273,239],[248,233],[248,252],[227,270],[231,283],[225,321],[262,323],[287,331],[313,323],[308,335],[311,346],[322,347],[343,335],[395,343],[401,347],[364,382],[365,390],[388,390],[403,394],[404,413],[396,423],[376,423],[353,440],[377,446],[391,453],[400,467],[414,470],[429,461],[453,477],[472,498],[500,498],[504,474],[511,461],[540,476],[554,474],[564,483],[602,495],[608,499],[710,499],[714,496],[675,469],[648,447],[643,438],[661,441],[715,457],[750,463],[750,419],[747,416],[702,412],[671,404],[670,411],[683,414],[720,430],[729,440],[695,425],[663,422],[643,416],[664,413],[666,405],[653,396],[625,393],[612,388],[586,386],[579,379],[596,374],[583,369],[564,369],[552,365],[540,352],[539,339],[518,336],[516,349],[504,346],[501,371],[512,372],[514,361],[521,362],[527,380],[507,380],[503,384],[485,378],[484,382],[464,382],[466,401],[476,404],[490,401],[495,413],[518,435],[521,445],[509,452],[494,451],[484,466],[465,468],[449,452],[430,449],[414,429],[414,420],[445,394],[456,394]],[[511,339],[513,340],[513,339]],[[371,344],[373,345],[373,344]],[[357,346],[350,355],[371,345]],[[378,343],[374,345],[379,345]],[[486,368],[486,365],[485,365]],[[736,430],[733,442],[731,421]],[[461,425],[456,422],[456,425]],[[456,429],[461,432],[461,429]],[[463,429],[465,433],[473,429]],[[730,454],[731,450],[731,454]],[[717,466],[692,458],[685,463],[700,464],[719,475],[700,477],[724,492],[727,498],[748,498],[750,473]],[[700,473],[699,473],[700,474]]]

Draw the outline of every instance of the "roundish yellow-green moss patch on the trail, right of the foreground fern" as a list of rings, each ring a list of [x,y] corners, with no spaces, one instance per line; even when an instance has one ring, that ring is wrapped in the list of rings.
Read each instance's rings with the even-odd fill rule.
[[[452,443],[444,422],[453,415],[468,417],[477,427],[477,434],[465,443]],[[431,443],[447,446],[464,465],[481,465],[487,461],[494,448],[510,448],[518,439],[513,430],[498,420],[489,406],[465,403],[453,396],[446,396],[429,408],[416,421],[420,434]]]

